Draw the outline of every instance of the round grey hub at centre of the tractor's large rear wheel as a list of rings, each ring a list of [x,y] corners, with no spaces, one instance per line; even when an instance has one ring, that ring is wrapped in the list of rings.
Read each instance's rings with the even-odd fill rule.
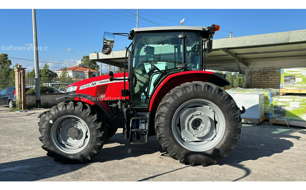
[[[204,113],[195,112],[187,116],[186,126],[190,133],[189,135],[203,137],[210,131],[211,122]]]

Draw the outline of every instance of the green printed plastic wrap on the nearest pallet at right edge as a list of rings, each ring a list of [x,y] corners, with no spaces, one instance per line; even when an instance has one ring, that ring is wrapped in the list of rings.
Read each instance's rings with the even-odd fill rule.
[[[306,96],[271,97],[270,118],[306,121]],[[306,125],[306,124],[305,124]]]

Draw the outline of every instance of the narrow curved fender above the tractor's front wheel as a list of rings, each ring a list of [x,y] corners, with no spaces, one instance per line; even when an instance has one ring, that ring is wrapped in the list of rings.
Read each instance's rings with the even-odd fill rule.
[[[91,105],[97,105],[99,106],[99,108],[101,108],[107,115],[108,118],[112,118],[114,117],[114,113],[112,112],[112,110],[110,109],[110,107],[108,107],[108,105],[106,105],[106,103],[102,100],[97,99],[94,96],[88,95],[88,94],[67,94],[61,97],[56,98],[57,100],[60,98],[66,98],[66,97],[78,97],[80,101],[89,103]],[[86,98],[83,99],[82,98]],[[89,100],[88,100],[89,99]]]

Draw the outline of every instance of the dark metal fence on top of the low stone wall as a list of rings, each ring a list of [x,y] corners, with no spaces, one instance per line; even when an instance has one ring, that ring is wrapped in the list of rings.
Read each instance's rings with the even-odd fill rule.
[[[84,77],[61,77],[61,76],[42,76],[39,78],[40,85],[41,86],[49,86],[49,88],[46,88],[47,92],[65,92],[65,88],[68,85],[71,85],[75,82],[79,82],[81,80],[84,80]],[[35,75],[28,74],[25,76],[25,86],[28,89],[33,89],[35,87]],[[43,93],[43,92],[41,92]]]

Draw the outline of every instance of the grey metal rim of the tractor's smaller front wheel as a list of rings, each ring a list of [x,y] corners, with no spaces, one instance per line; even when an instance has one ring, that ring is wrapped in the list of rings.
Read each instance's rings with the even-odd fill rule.
[[[88,126],[77,116],[63,116],[56,120],[51,129],[52,141],[62,152],[75,154],[88,145]]]

